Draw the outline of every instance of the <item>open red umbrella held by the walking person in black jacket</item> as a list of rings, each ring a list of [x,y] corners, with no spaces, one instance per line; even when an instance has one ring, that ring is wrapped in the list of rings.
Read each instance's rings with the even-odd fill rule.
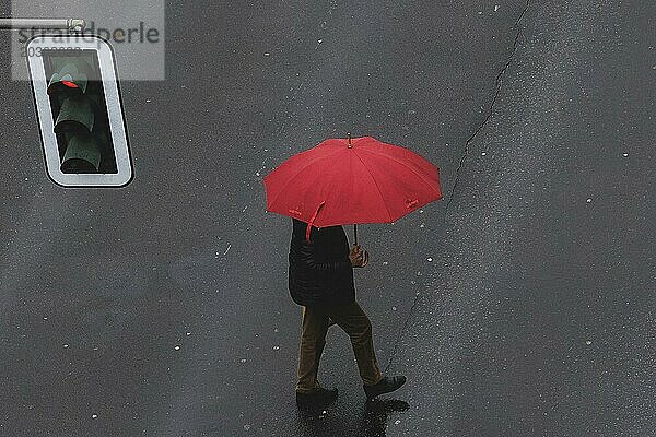
[[[267,211],[298,218],[308,231],[391,223],[442,198],[437,167],[373,137],[328,139],[268,174],[265,188]]]

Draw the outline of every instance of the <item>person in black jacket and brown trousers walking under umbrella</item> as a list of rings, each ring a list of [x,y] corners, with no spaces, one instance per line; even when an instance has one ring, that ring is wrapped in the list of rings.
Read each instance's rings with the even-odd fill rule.
[[[376,361],[372,324],[355,300],[353,268],[363,268],[368,253],[360,246],[349,249],[342,226],[318,228],[292,218],[289,255],[289,290],[302,306],[302,334],[298,351],[298,406],[332,403],[337,389],[325,389],[317,379],[326,333],[339,326],[350,338],[363,389],[368,400],[397,390],[405,376],[384,376]]]

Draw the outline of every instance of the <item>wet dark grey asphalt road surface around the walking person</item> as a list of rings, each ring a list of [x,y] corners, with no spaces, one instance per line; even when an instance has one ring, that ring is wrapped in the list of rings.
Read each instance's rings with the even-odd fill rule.
[[[0,435],[656,435],[655,7],[466,3],[167,4],[167,81],[122,84],[120,190],[54,186],[1,80]],[[436,163],[445,199],[359,228],[407,386],[366,405],[331,328],[340,399],[304,414],[261,179],[345,131]]]

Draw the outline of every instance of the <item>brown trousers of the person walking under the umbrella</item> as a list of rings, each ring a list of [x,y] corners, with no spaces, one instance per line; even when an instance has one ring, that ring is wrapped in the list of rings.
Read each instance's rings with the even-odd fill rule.
[[[335,308],[302,307],[302,315],[297,392],[309,393],[321,387],[317,381],[317,373],[330,320],[349,334],[363,383],[374,385],[380,381],[372,323],[356,302]]]

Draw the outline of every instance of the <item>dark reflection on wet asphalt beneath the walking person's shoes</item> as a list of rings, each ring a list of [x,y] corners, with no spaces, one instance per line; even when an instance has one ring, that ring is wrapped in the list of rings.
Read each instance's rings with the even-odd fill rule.
[[[330,409],[300,410],[298,428],[304,436],[385,437],[389,415],[408,409],[398,399],[367,401],[358,423],[345,423]]]

